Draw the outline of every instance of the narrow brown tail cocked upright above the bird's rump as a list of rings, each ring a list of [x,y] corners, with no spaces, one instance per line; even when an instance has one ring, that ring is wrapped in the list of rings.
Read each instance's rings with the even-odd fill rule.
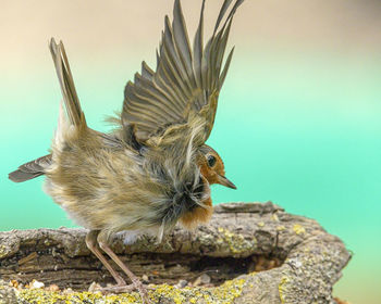
[[[58,45],[56,40],[51,38],[49,49],[53,58],[70,123],[74,126],[86,124],[62,41]]]

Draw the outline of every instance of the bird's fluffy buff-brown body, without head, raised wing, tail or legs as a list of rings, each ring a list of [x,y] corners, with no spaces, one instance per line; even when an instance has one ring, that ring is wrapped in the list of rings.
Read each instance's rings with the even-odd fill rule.
[[[186,226],[209,218],[209,183],[192,142],[135,150],[116,134],[72,128],[61,115],[45,188],[77,224],[105,235],[128,230],[161,239],[195,208],[205,215],[185,220]]]

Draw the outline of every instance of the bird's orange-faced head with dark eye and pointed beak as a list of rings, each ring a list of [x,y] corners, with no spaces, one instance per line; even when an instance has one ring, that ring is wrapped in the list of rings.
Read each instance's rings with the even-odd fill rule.
[[[205,177],[210,185],[220,183],[232,189],[237,189],[235,185],[225,177],[223,162],[211,147],[204,144],[200,148],[198,165],[202,177]]]

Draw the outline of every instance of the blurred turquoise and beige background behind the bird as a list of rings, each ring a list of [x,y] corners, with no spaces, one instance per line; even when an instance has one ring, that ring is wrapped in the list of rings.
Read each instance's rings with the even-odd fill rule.
[[[44,178],[7,174],[47,153],[61,92],[48,39],[63,39],[90,127],[120,110],[123,87],[155,49],[172,0],[0,1],[0,230],[73,224]],[[207,1],[210,30],[221,1]],[[183,1],[190,35],[200,1]],[[246,0],[209,139],[237,191],[214,202],[268,201],[316,218],[354,257],[334,294],[380,303],[381,1]],[[210,31],[208,31],[210,33]]]

